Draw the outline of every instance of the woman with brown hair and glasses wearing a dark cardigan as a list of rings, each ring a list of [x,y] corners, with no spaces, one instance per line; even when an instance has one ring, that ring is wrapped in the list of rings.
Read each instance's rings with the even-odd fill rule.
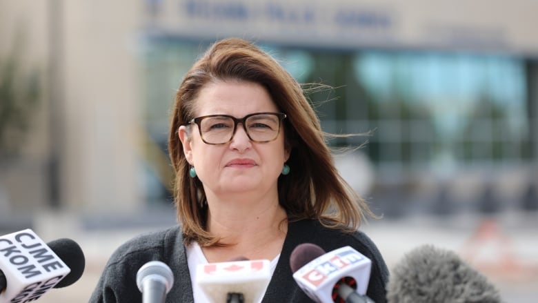
[[[372,260],[367,295],[385,302],[388,270],[357,231],[372,215],[341,178],[301,86],[243,39],[213,44],[179,86],[168,147],[180,226],[141,235],[109,260],[90,302],[140,302],[140,266],[160,260],[175,282],[167,302],[207,302],[198,264],[270,260],[261,302],[312,302],[292,277],[302,243],[352,246]]]

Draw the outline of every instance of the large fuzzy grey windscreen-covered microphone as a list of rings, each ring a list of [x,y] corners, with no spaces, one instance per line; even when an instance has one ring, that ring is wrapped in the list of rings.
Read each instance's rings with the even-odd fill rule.
[[[392,269],[387,300],[396,302],[501,302],[486,277],[452,251],[423,245]]]

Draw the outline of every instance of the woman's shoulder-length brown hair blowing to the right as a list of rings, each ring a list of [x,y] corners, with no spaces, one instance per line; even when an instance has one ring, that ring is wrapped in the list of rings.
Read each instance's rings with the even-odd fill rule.
[[[186,244],[218,244],[206,230],[207,204],[197,177],[183,155],[179,126],[194,118],[197,94],[215,81],[251,81],[265,87],[284,119],[285,144],[291,173],[278,180],[279,204],[288,219],[319,219],[329,228],[350,231],[365,214],[373,215],[357,193],[342,179],[332,160],[319,119],[301,86],[266,52],[249,41],[229,38],[217,41],[190,68],[175,95],[168,148],[175,170],[174,195],[177,216]]]

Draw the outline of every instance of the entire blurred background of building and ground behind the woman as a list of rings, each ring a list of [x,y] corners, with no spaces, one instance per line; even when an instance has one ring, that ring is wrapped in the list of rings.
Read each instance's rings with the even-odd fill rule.
[[[70,237],[86,302],[114,248],[176,224],[166,140],[183,75],[244,37],[301,83],[389,267],[459,253],[507,302],[538,295],[538,2],[0,0],[0,232]],[[327,100],[330,100],[326,102]],[[292,168],[293,169],[293,168]]]

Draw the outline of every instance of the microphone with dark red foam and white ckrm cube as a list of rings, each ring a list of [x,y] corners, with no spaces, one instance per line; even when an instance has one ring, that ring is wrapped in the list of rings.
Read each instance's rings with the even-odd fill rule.
[[[370,259],[351,246],[325,253],[315,244],[303,243],[290,255],[295,282],[319,303],[373,302],[366,296],[371,266]]]

